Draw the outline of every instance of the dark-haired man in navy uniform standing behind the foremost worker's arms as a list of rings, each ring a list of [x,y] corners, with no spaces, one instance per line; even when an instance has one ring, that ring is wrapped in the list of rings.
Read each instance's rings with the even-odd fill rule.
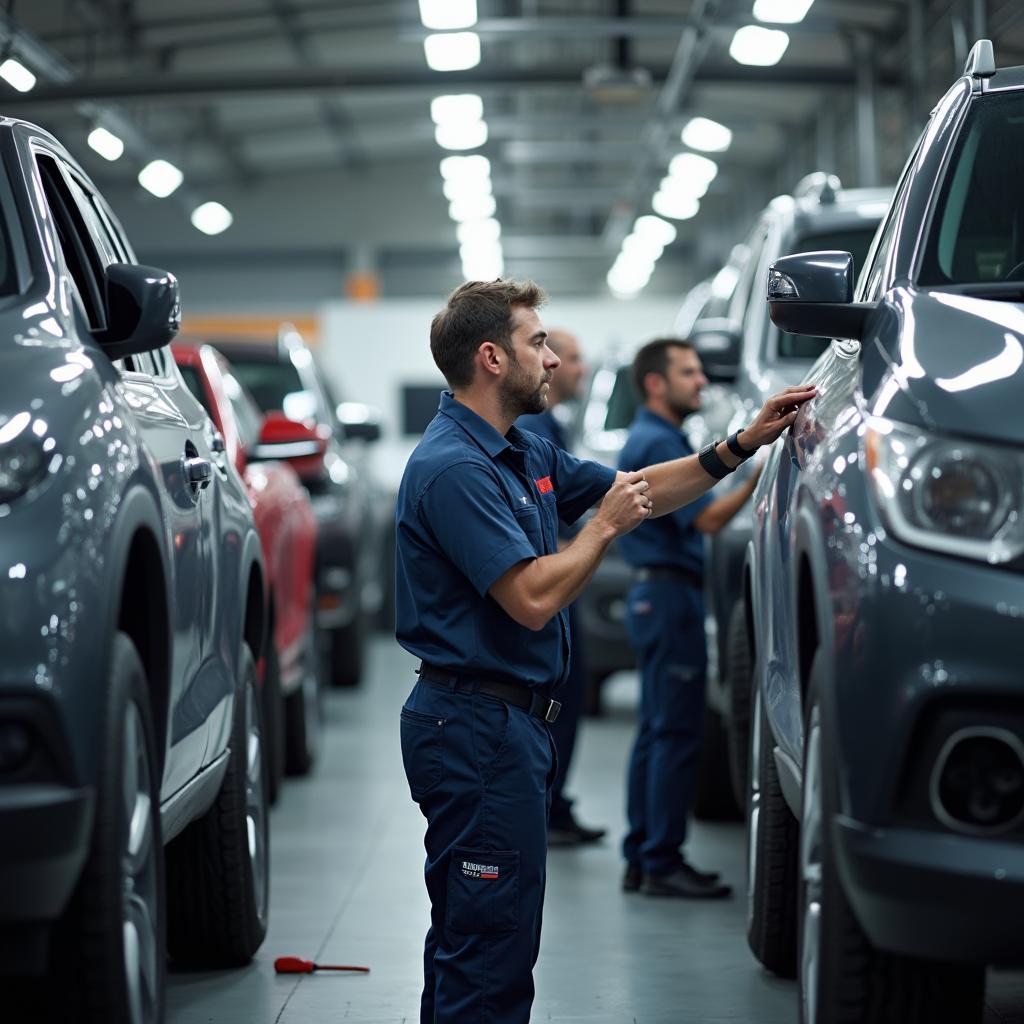
[[[646,466],[693,454],[683,420],[708,384],[693,347],[676,338],[643,346],[633,360],[642,404],[618,465]],[[638,732],[627,779],[629,831],[623,888],[650,896],[721,898],[730,888],[683,856],[696,792],[705,709],[703,535],[716,534],[754,493],[760,473],[721,498],[701,495],[644,523],[618,544],[634,568],[626,625],[640,668]]]

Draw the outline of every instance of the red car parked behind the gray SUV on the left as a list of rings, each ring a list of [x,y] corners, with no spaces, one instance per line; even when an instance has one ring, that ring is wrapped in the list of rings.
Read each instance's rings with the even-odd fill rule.
[[[230,364],[213,347],[175,342],[174,359],[188,389],[206,408],[222,445],[217,470],[242,476],[263,548],[268,589],[268,635],[261,677],[269,742],[271,797],[281,777],[302,775],[319,741],[319,670],[315,633],[316,519],[309,496],[287,462],[263,461],[264,419]],[[270,418],[272,419],[272,417]],[[273,432],[273,424],[266,424]],[[276,438],[274,438],[276,439]],[[276,446],[278,453],[286,449]],[[216,458],[216,457],[215,457]],[[301,458],[301,456],[300,456]]]

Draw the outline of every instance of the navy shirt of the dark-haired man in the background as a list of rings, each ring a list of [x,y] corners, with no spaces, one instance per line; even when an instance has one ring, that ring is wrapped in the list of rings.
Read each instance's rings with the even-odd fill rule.
[[[693,455],[686,435],[664,417],[641,407],[618,457],[618,468],[632,472]],[[618,539],[623,558],[636,568],[668,565],[703,574],[703,536],[693,520],[713,501],[710,494],[670,515],[640,523]]]

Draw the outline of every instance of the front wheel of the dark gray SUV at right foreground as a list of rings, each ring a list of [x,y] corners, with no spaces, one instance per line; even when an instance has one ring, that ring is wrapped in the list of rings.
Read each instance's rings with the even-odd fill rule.
[[[983,966],[941,964],[877,949],[843,891],[828,822],[839,810],[835,743],[821,714],[823,654],[811,667],[800,843],[802,1024],[980,1024]]]

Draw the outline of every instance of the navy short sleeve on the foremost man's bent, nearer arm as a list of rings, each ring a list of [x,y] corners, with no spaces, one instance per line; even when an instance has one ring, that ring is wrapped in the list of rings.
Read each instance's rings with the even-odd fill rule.
[[[481,597],[513,565],[537,558],[499,480],[482,463],[458,462],[438,473],[421,495],[418,513]]]

